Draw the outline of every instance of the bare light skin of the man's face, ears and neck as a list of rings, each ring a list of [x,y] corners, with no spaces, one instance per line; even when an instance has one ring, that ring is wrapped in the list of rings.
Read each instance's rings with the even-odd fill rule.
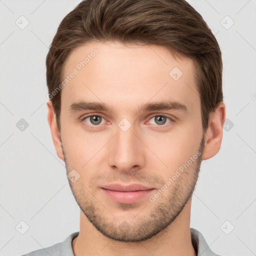
[[[220,149],[225,105],[220,102],[209,114],[204,133],[193,61],[174,58],[159,45],[91,42],[71,52],[64,75],[94,48],[99,52],[62,88],[60,134],[47,102],[57,155],[67,173],[75,169],[80,175],[75,182],[69,180],[81,209],[74,255],[196,255],[189,230],[191,194],[201,160]],[[183,73],[178,80],[169,75],[173,67]],[[69,110],[82,100],[106,103],[111,111]],[[182,102],[187,111],[137,111],[138,106],[163,100]],[[101,116],[100,124],[84,119],[90,114]],[[167,117],[164,124],[158,115]],[[118,126],[123,118],[131,124],[126,131]],[[201,155],[151,202],[148,196],[196,152]],[[135,203],[118,203],[101,189],[115,182],[154,190]]]

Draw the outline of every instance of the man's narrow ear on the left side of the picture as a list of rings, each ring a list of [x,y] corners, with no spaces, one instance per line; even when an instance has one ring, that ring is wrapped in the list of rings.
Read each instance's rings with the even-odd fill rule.
[[[57,153],[58,157],[61,160],[64,160],[63,150],[62,150],[61,141],[60,141],[60,134],[59,134],[59,130],[58,130],[58,127],[57,127],[55,113],[54,113],[52,103],[51,103],[50,100],[47,101],[47,107],[48,107],[47,119],[48,119],[48,123],[49,123],[49,126],[50,126],[50,132],[51,132],[51,137],[52,137],[52,140],[53,140],[53,144],[55,146],[56,153]]]

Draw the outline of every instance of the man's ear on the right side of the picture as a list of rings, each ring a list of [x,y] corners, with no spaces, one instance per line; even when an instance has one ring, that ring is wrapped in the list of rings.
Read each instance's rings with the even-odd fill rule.
[[[219,151],[223,135],[225,115],[226,110],[223,101],[219,102],[214,112],[210,112],[202,160],[211,158]]]

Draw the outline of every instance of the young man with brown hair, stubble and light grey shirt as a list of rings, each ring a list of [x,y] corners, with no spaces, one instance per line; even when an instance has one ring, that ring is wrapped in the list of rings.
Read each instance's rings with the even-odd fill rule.
[[[220,149],[222,61],[185,0],[85,0],[46,58],[48,123],[80,230],[26,255],[216,255],[190,228]]]

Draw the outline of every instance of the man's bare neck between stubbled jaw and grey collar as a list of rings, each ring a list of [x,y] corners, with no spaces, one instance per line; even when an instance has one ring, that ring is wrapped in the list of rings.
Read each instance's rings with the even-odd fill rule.
[[[149,239],[139,242],[122,242],[100,233],[80,212],[80,231],[72,241],[74,256],[196,256],[190,235],[191,198],[175,220]]]

